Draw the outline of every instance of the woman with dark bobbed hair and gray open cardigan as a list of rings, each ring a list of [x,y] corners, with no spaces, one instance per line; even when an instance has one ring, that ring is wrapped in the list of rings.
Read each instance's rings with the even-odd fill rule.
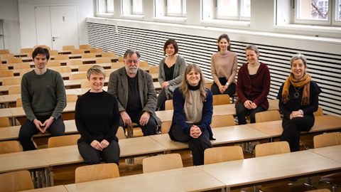
[[[163,46],[163,58],[158,64],[158,82],[162,90],[158,95],[156,110],[165,110],[166,100],[171,100],[173,91],[179,86],[183,71],[186,67],[186,60],[178,53],[178,43],[175,39],[169,38]]]

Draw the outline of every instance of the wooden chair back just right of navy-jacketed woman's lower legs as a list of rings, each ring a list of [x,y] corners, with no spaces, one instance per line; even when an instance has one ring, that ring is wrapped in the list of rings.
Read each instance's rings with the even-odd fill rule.
[[[204,151],[204,164],[215,164],[239,159],[244,159],[241,146],[219,146],[208,148]]]

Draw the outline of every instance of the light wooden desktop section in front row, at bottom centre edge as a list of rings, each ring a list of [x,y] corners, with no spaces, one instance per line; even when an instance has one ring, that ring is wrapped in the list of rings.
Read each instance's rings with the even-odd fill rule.
[[[226,170],[225,170],[226,171]],[[228,172],[228,171],[226,171]],[[224,184],[196,166],[65,186],[67,191],[209,191]]]

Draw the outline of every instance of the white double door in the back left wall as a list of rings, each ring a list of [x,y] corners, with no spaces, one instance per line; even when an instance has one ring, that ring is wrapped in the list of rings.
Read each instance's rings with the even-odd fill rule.
[[[63,46],[78,47],[77,6],[36,6],[37,45],[62,50]]]

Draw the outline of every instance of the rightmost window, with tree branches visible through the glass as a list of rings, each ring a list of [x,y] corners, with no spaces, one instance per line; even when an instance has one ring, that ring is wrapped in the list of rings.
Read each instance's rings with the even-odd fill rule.
[[[295,23],[340,25],[341,0],[297,0]]]

